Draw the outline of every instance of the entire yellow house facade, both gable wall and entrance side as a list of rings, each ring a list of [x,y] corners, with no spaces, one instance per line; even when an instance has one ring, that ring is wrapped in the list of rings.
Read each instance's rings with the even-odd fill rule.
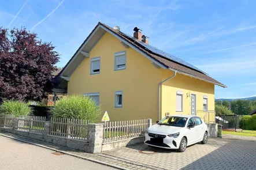
[[[126,69],[114,70],[114,54],[126,52]],[[91,59],[100,57],[100,73],[90,74]],[[110,33],[98,41],[76,68],[68,82],[68,95],[99,93],[102,115],[105,111],[113,120],[158,119],[158,84],[172,76],[173,71],[156,68],[151,61],[133,48],[125,48]],[[176,91],[184,93],[183,112],[176,112]],[[115,92],[123,91],[123,107],[115,107]],[[161,88],[161,118],[170,114],[191,114],[190,97],[196,94],[196,109],[203,109],[203,96],[208,96],[208,109],[214,110],[214,85],[177,74]]]

